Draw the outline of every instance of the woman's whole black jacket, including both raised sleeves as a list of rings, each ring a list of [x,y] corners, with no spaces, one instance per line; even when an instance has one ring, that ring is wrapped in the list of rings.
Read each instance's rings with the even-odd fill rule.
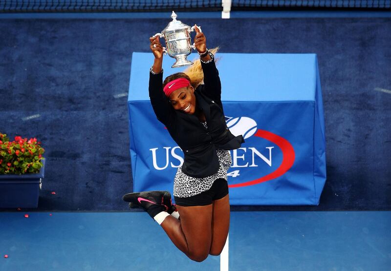
[[[166,125],[184,153],[182,171],[195,178],[215,174],[219,167],[216,149],[236,149],[244,142],[227,128],[221,103],[221,83],[215,62],[202,63],[204,84],[195,89],[196,106],[205,114],[208,129],[195,115],[175,110],[163,92],[163,73],[150,72],[149,94],[157,119]]]

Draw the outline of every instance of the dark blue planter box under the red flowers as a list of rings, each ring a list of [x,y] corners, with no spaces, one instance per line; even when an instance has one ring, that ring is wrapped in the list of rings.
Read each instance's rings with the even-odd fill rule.
[[[42,179],[45,173],[43,167],[37,174],[0,175],[0,208],[37,208]]]

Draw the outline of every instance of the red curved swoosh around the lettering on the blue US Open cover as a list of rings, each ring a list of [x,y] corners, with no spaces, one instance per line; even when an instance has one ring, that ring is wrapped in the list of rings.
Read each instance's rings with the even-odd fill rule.
[[[270,174],[267,174],[253,181],[229,185],[229,188],[253,186],[266,181],[270,181],[272,179],[280,177],[293,166],[293,163],[295,162],[295,150],[293,149],[293,146],[289,143],[289,141],[282,138],[281,136],[261,129],[258,129],[258,131],[255,133],[255,136],[267,139],[268,141],[271,141],[277,146],[279,146],[282,150],[282,163],[279,168],[277,168]]]

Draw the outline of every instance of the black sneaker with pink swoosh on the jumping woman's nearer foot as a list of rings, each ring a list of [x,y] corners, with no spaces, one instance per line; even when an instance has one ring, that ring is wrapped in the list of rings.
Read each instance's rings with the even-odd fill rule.
[[[159,212],[168,211],[168,207],[164,204],[165,192],[168,191],[135,192],[124,195],[122,199],[130,202],[130,208],[143,208],[153,218]]]

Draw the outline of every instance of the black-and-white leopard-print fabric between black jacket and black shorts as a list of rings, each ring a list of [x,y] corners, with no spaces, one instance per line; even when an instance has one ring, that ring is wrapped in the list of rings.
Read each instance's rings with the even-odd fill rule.
[[[191,197],[209,190],[213,182],[219,178],[227,180],[227,170],[232,163],[231,154],[229,150],[217,149],[217,157],[220,167],[217,173],[208,177],[190,177],[182,172],[182,167],[178,167],[174,178],[174,196],[181,198]]]

